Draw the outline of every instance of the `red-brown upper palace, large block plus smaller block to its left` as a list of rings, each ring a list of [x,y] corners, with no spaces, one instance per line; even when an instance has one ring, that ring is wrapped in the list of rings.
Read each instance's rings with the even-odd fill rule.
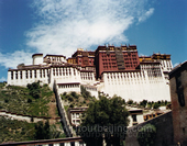
[[[140,65],[135,45],[98,46],[95,52],[77,49],[68,63],[72,64],[72,59],[81,67],[96,67],[97,79],[101,78],[103,71],[135,70]]]

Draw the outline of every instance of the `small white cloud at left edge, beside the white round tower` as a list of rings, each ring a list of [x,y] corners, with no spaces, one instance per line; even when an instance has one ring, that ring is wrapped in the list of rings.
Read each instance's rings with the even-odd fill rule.
[[[15,68],[19,64],[24,63],[25,65],[31,65],[32,53],[24,50],[15,50],[14,53],[0,53],[0,65],[6,68]]]

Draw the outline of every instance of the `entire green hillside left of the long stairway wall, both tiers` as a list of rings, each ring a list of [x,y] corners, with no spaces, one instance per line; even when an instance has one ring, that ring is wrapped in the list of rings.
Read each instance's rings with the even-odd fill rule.
[[[0,111],[31,116],[58,117],[54,92],[47,85],[40,86],[40,82],[33,82],[28,87],[6,86],[0,82]],[[48,121],[48,137],[45,137],[46,122],[43,120],[37,123],[32,123],[32,121],[28,123],[0,116],[0,143],[65,137],[59,120]],[[43,134],[41,130],[43,130]],[[41,137],[41,135],[43,136]]]

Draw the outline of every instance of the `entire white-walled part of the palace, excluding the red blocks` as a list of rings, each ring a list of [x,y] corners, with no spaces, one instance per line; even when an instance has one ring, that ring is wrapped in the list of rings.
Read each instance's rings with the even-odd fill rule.
[[[42,83],[48,83],[53,89],[54,81],[56,81],[59,93],[80,92],[80,85],[82,85],[96,98],[100,91],[109,97],[120,96],[127,101],[129,99],[170,101],[168,79],[166,78],[167,72],[172,69],[170,60],[141,63],[138,70],[102,72],[102,81],[96,81],[94,71],[72,66],[65,63],[63,56],[47,55],[44,57],[46,65],[41,64],[44,61],[41,57],[33,57],[34,65],[9,69],[8,85],[25,87],[28,83],[40,80]]]

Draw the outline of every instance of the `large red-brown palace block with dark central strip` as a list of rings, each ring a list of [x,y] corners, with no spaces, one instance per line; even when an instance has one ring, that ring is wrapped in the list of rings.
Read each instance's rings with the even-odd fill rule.
[[[98,46],[95,53],[97,78],[103,71],[135,70],[140,65],[135,45]]]

